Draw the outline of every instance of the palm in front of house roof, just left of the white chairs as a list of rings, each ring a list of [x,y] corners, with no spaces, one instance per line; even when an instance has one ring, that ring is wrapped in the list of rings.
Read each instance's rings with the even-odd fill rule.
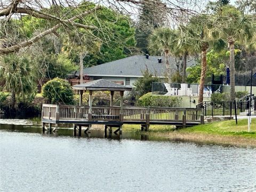
[[[168,82],[171,83],[171,74],[173,70],[170,67],[169,55],[175,50],[175,40],[177,31],[169,28],[157,28],[149,36],[149,50],[153,52],[163,52],[165,57],[165,66],[167,70]]]

